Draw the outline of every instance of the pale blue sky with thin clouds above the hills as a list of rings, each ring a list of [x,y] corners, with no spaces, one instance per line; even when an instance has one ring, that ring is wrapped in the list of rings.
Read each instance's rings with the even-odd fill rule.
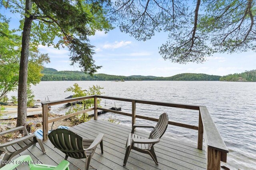
[[[18,15],[0,9],[1,14],[12,17],[10,29],[19,26]],[[162,44],[166,43],[168,33],[156,33],[147,41],[137,41],[129,34],[122,33],[118,27],[104,33],[96,31],[90,36],[90,44],[94,45],[95,64],[102,66],[97,73],[112,75],[143,75],[143,76],[173,76],[180,73],[204,73],[224,76],[256,69],[256,53],[253,51],[233,54],[214,54],[201,64],[178,64],[164,60],[158,53]],[[46,67],[56,70],[78,70],[78,64],[70,65],[67,48],[39,46],[41,53],[48,53],[50,63]]]

